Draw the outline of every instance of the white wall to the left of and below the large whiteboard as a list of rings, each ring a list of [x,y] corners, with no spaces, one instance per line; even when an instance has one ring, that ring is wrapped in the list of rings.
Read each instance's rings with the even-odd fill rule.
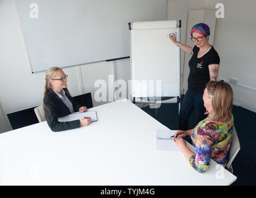
[[[0,104],[3,116],[1,132],[11,126],[6,114],[24,110],[42,103],[45,84],[45,72],[32,74],[25,43],[20,29],[19,17],[14,0],[0,1]],[[130,78],[130,59],[116,61],[117,79]],[[63,71],[69,75],[68,88],[71,95],[92,92],[93,105],[104,102],[94,100],[95,80],[104,79],[113,74],[113,62],[95,62],[76,67],[67,67]],[[82,77],[82,78],[81,78]]]

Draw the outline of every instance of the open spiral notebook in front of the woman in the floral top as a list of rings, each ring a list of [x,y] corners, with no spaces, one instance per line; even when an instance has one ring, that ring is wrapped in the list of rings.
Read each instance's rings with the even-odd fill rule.
[[[174,140],[170,136],[174,136],[175,132],[169,129],[156,130],[156,150],[179,151],[174,144]]]

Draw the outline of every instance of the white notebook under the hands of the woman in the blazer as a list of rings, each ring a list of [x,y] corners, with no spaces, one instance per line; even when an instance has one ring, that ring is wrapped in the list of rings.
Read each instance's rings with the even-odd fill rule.
[[[68,121],[74,121],[77,119],[82,119],[84,117],[92,118],[92,122],[97,121],[96,111],[86,111],[84,113],[82,113],[82,112],[71,113],[71,114],[68,114],[67,116],[58,118],[58,121],[59,122],[68,122]]]

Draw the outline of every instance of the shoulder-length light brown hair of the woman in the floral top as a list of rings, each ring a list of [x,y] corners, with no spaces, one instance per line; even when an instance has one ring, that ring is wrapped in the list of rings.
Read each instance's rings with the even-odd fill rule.
[[[208,118],[217,122],[228,122],[232,118],[233,91],[231,86],[222,81],[210,81],[206,89],[208,97],[213,98],[212,110]]]

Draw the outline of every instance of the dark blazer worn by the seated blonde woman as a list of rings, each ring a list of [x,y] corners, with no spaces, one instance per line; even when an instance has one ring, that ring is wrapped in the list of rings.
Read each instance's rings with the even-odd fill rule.
[[[67,93],[66,88],[64,91]],[[68,99],[71,101],[73,105],[74,112],[78,111],[81,105],[76,103],[73,98],[69,97],[66,94]],[[70,114],[70,110],[68,106],[66,106],[63,101],[61,101],[60,97],[56,95],[56,93],[50,88],[48,92],[45,94],[43,98],[44,110],[45,110],[45,118],[48,126],[51,128],[51,131],[64,131],[68,129],[75,129],[80,127],[80,121],[70,121],[70,122],[59,122],[58,118],[66,116]]]

